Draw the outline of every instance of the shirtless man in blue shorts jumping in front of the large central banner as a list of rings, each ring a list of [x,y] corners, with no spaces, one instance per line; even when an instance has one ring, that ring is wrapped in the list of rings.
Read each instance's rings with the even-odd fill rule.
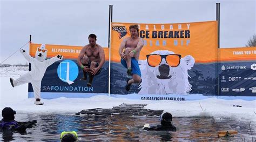
[[[132,79],[126,80],[126,91],[130,90],[132,83],[140,83],[142,73],[139,69],[139,53],[143,48],[143,39],[138,37],[138,25],[130,25],[129,27],[131,37],[126,37],[119,47],[119,55],[121,57],[121,64],[127,68],[127,74],[132,76]],[[123,51],[124,49],[124,51]]]

